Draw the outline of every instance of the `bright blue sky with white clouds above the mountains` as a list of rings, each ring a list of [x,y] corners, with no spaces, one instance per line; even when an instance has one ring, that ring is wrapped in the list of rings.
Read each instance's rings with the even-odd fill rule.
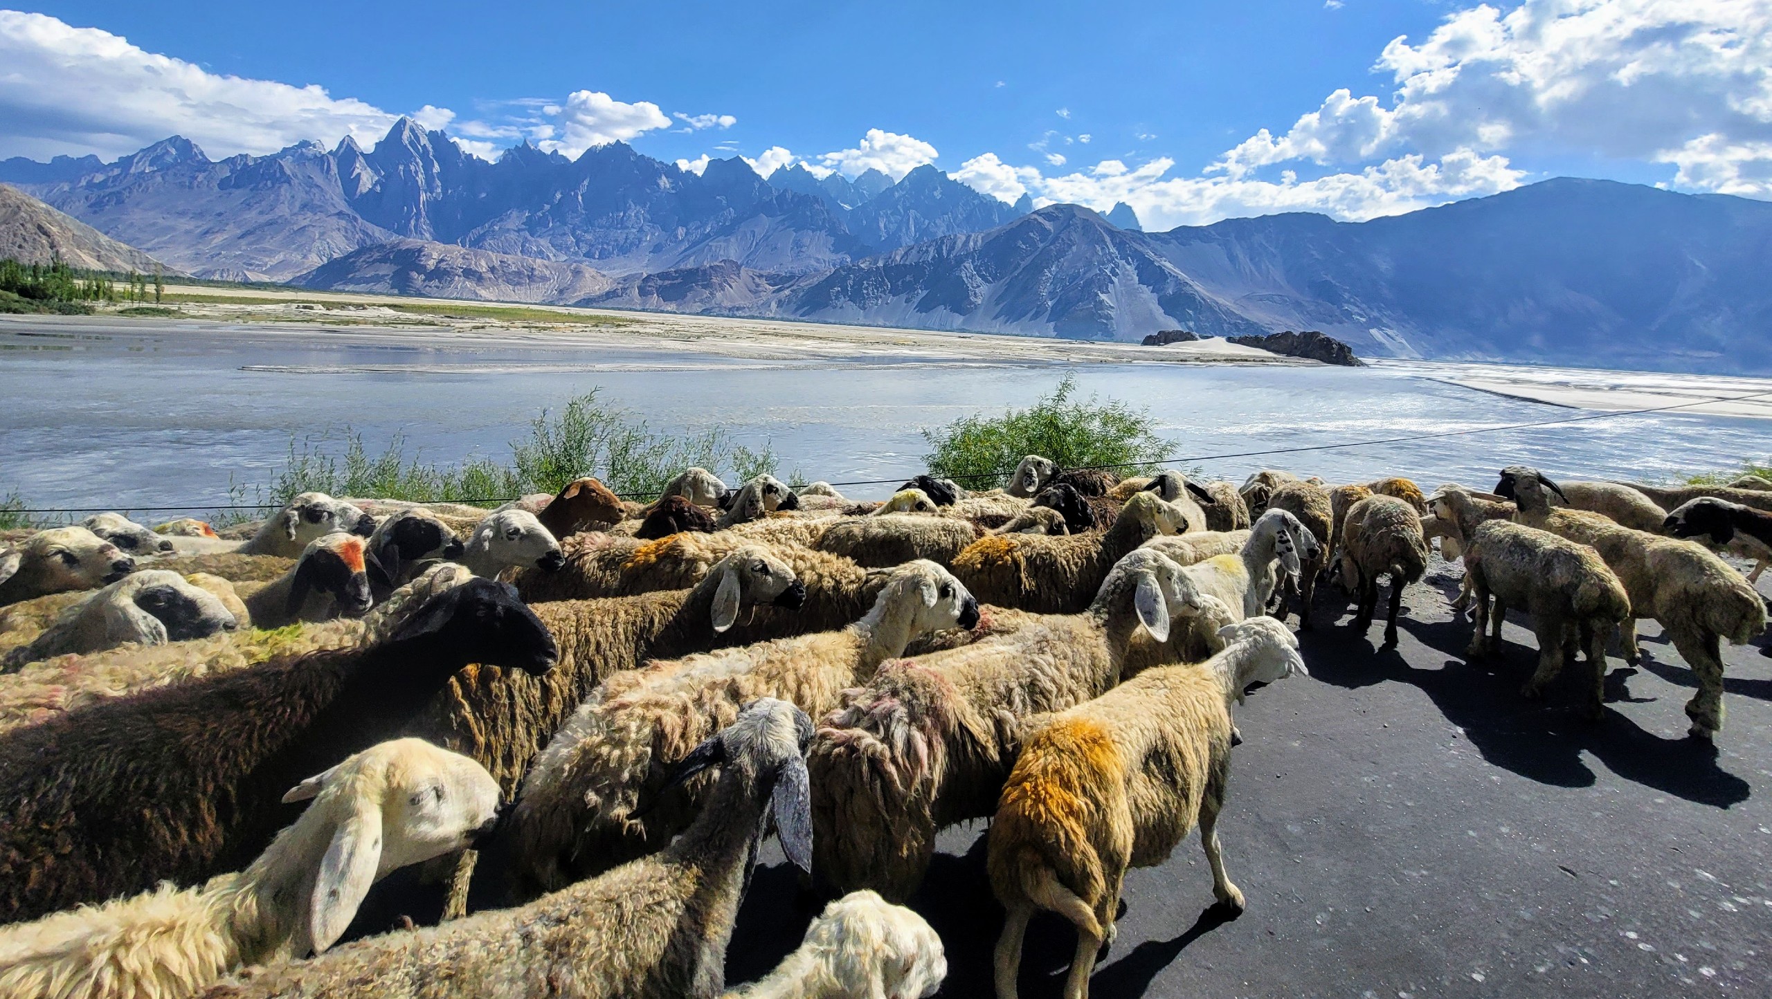
[[[367,143],[422,112],[486,156],[934,161],[1164,228],[1558,174],[1772,197],[1772,0],[85,2],[0,14],[7,64],[0,156]]]

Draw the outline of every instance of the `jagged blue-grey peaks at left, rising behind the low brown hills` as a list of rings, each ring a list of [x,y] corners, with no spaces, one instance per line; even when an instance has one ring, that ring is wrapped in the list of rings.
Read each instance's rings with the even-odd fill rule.
[[[330,152],[301,143],[211,163],[174,136],[115,163],[0,163],[0,181],[170,264],[273,280],[395,237],[578,260],[615,275],[719,260],[806,273],[1014,216],[930,174],[914,181],[914,193],[858,216],[872,234],[859,237],[851,213],[898,191],[877,170],[819,181],[790,168],[767,182],[732,158],[696,175],[624,143],[578,159],[525,143],[487,163],[411,119],[369,152],[347,138]]]

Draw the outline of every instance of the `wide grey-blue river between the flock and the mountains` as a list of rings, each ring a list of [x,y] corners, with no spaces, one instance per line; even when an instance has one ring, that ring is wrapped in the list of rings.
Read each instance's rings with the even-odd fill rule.
[[[783,473],[829,482],[902,480],[921,469],[920,434],[971,413],[1024,406],[1070,370],[1081,395],[1148,407],[1162,436],[1209,476],[1286,468],[1331,482],[1409,475],[1488,487],[1504,464],[1554,476],[1664,478],[1731,468],[1772,450],[1772,423],[1653,413],[1460,438],[1276,457],[1214,457],[1588,413],[1435,381],[1428,365],[980,365],[868,358],[744,360],[661,349],[597,349],[223,324],[0,322],[0,496],[32,507],[142,508],[227,501],[264,485],[292,436],[346,427],[372,453],[402,434],[408,455],[509,457],[546,406],[601,388],[656,429],[725,427],[769,443]],[[1485,367],[1487,376],[1543,368]],[[1685,379],[1703,386],[1705,379]],[[1749,379],[1722,379],[1717,395]],[[1772,391],[1772,381],[1761,383]],[[884,485],[845,494],[882,496]]]

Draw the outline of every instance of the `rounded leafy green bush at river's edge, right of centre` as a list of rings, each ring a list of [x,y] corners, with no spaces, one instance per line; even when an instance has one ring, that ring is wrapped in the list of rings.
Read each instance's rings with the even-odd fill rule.
[[[1065,376],[1028,409],[1010,409],[1001,416],[975,413],[939,430],[923,430],[929,453],[923,461],[930,475],[953,478],[968,489],[991,489],[1008,482],[1015,464],[1026,455],[1042,455],[1061,468],[1125,466],[1122,475],[1150,475],[1155,462],[1175,453],[1175,445],[1159,438],[1148,409],[1097,397],[1074,399],[1076,379]]]

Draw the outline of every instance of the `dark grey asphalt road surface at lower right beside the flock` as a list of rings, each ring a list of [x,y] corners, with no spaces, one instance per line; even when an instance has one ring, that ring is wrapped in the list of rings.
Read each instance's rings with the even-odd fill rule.
[[[1464,661],[1455,579],[1435,561],[1409,588],[1395,650],[1320,592],[1311,677],[1237,714],[1219,836],[1247,910],[1212,907],[1191,836],[1127,877],[1092,995],[1772,995],[1772,659],[1724,648],[1710,749],[1685,739],[1690,671],[1644,622],[1646,662],[1613,661],[1605,717],[1588,723],[1579,668],[1519,698],[1536,647],[1515,620],[1501,657]],[[950,831],[913,898],[946,946],[941,995],[992,994],[1003,914],[983,854],[983,824]],[[817,909],[773,843],[766,864],[732,983],[797,946]],[[1074,941],[1035,919],[1024,997],[1060,994]]]

